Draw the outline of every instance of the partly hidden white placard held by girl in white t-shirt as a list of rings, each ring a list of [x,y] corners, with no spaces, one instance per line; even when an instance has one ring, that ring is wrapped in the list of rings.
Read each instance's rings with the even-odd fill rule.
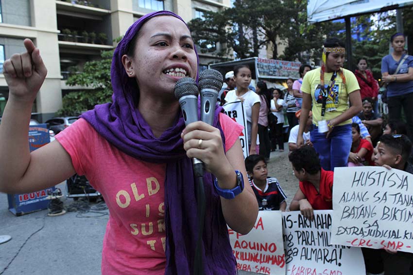
[[[224,108],[224,112],[226,113],[226,115],[228,115],[235,122],[237,122],[238,124],[244,127],[244,129],[242,130],[240,134],[240,141],[241,141],[241,146],[242,146],[242,152],[244,153],[244,159],[246,159],[246,157],[248,157],[249,155],[248,129],[247,129],[247,117],[245,114],[245,110],[242,106],[242,102],[234,101],[234,102],[225,103],[223,108]]]

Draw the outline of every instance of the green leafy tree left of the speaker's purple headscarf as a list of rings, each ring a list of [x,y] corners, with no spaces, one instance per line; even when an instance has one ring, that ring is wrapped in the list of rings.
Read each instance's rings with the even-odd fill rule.
[[[81,73],[72,74],[69,77],[66,81],[69,86],[80,85],[91,87],[93,90],[67,94],[62,99],[63,107],[57,111],[57,115],[79,115],[84,111],[93,109],[96,104],[112,100],[112,84],[110,81],[112,56],[113,50],[102,51],[101,60],[86,62]]]

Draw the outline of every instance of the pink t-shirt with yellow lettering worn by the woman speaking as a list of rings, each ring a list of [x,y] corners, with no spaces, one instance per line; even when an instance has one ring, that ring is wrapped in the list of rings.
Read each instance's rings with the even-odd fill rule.
[[[225,148],[242,126],[220,114]],[[85,175],[109,208],[103,239],[103,275],[163,275],[166,164],[139,161],[112,146],[84,119],[56,135],[77,174]]]

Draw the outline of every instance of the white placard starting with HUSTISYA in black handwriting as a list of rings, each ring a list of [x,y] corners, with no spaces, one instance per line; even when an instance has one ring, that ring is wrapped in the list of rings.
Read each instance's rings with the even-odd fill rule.
[[[413,175],[378,166],[334,170],[331,242],[413,252]]]

